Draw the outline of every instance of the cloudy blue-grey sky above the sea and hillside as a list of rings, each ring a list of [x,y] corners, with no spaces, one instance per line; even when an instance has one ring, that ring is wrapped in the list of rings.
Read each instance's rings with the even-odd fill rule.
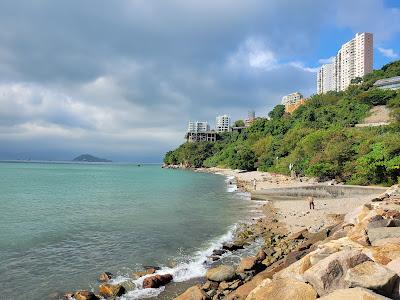
[[[161,162],[189,120],[314,94],[365,31],[400,59],[400,1],[1,0],[0,159]]]

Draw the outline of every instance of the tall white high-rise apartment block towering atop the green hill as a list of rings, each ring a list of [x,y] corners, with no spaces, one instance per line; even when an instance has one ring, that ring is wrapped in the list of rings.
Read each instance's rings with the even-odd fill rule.
[[[317,75],[317,92],[344,91],[357,77],[373,70],[373,35],[357,33],[343,44],[334,61],[321,67]]]

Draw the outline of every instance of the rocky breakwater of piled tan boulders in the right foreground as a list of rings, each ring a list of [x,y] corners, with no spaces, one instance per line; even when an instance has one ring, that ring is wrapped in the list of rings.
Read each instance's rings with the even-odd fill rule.
[[[317,233],[270,226],[259,235],[256,256],[208,270],[176,299],[400,299],[398,186]]]

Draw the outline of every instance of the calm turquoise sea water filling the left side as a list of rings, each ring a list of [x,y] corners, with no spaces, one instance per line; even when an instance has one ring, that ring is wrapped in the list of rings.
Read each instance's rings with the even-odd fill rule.
[[[160,166],[0,163],[0,191],[0,299],[90,289],[142,265],[198,276],[201,253],[250,209],[223,176]]]

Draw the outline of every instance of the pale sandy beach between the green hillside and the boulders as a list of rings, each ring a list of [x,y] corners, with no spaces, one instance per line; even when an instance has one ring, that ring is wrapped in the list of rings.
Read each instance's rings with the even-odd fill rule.
[[[291,178],[282,174],[260,171],[242,172],[240,170],[222,168],[198,169],[198,171],[234,176],[238,188],[252,194],[275,188],[301,188],[332,184],[331,182],[318,183],[316,180],[307,177]],[[254,179],[257,182],[256,191],[253,189]],[[271,201],[271,204],[276,209],[276,217],[280,222],[285,224],[288,233],[305,228],[311,232],[317,232],[323,227],[337,223],[339,215],[344,215],[356,207],[369,202],[384,190],[385,188],[376,188],[376,191],[372,191],[368,197],[347,195],[346,197],[338,198],[316,198],[315,209],[313,210],[309,209],[306,197],[298,197],[295,200],[275,200]]]

